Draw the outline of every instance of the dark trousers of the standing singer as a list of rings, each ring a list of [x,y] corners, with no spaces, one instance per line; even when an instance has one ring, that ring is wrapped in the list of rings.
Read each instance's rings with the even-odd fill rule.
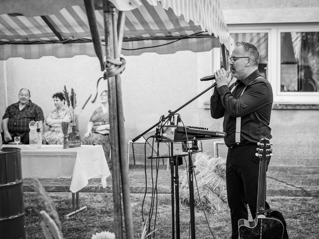
[[[238,239],[238,220],[248,220],[247,204],[252,218],[256,218],[259,175],[259,159],[255,156],[257,147],[257,144],[247,144],[228,148],[226,186],[232,239]],[[265,209],[269,209],[267,202]]]

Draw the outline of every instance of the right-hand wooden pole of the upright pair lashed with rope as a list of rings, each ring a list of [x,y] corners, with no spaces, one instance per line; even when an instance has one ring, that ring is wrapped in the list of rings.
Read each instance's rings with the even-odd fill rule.
[[[114,58],[120,59],[121,49],[119,45],[122,45],[125,23],[125,12],[119,12],[119,20],[116,24],[115,19],[115,7],[112,7],[112,22],[113,22],[113,44],[114,44]],[[118,28],[118,27],[119,28]],[[118,34],[119,32],[119,34]],[[119,35],[119,38],[118,38]],[[118,44],[118,41],[121,42]],[[125,143],[125,126],[124,126],[124,113],[123,113],[123,101],[122,101],[122,81],[121,73],[115,76],[116,83],[116,99],[117,99],[117,113],[118,113],[118,127],[119,127],[119,148],[120,148],[120,165],[121,165],[121,179],[122,179],[122,193],[123,193],[123,208],[124,208],[124,220],[125,231],[127,239],[134,239],[133,231],[133,217],[131,207],[131,193],[129,183],[129,167],[126,160],[126,143]]]

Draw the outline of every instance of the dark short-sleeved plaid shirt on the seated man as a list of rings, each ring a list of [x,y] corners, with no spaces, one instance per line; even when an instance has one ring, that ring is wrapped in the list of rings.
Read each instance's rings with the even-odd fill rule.
[[[20,111],[19,102],[8,106],[5,110],[2,119],[9,118],[8,120],[8,130],[10,133],[24,134],[30,131],[29,122],[43,121],[43,111],[42,109],[33,104],[31,101]]]

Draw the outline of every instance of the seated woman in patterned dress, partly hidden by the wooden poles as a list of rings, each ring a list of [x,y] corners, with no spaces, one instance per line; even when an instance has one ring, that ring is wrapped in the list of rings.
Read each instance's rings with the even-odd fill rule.
[[[100,144],[103,147],[106,161],[111,169],[110,159],[110,120],[108,92],[101,93],[102,106],[97,108],[88,123],[87,131],[84,134],[83,144]]]

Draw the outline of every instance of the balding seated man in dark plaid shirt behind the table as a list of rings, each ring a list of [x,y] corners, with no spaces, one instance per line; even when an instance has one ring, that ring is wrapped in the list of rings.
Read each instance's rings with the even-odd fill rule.
[[[30,91],[22,88],[19,91],[19,101],[8,106],[2,117],[1,133],[3,143],[13,141],[14,136],[20,136],[21,142],[29,144],[29,122],[38,121],[43,134],[43,111],[30,101]],[[42,137],[43,138],[43,137]]]

